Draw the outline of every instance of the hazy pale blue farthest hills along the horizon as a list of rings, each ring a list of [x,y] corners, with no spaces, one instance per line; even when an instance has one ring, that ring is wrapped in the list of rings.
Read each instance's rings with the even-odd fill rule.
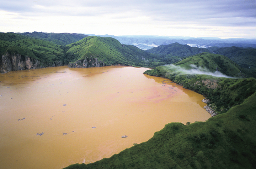
[[[95,34],[86,34],[89,36]],[[169,45],[171,43],[180,43],[182,45],[189,45],[191,47],[253,47],[256,48],[255,39],[244,39],[244,38],[229,38],[220,39],[218,37],[182,37],[182,36],[150,36],[150,35],[125,35],[125,36],[114,36],[114,35],[96,35],[101,37],[113,37],[120,43],[126,45],[134,45],[140,49],[148,50],[153,47],[160,45]]]

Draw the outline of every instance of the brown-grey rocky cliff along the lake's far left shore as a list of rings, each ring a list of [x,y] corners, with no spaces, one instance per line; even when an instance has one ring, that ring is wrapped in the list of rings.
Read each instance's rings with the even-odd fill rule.
[[[7,73],[9,71],[15,70],[39,69],[55,66],[63,66],[62,61],[45,63],[31,57],[23,56],[21,54],[5,53],[1,58],[0,72]]]

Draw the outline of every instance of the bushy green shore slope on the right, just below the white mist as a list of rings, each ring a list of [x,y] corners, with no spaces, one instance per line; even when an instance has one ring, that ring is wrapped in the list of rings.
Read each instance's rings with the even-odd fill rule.
[[[241,104],[256,90],[255,78],[225,78],[210,75],[191,75],[178,73],[169,66],[158,66],[156,69],[144,72],[151,76],[169,78],[184,88],[205,95],[211,100],[209,104],[219,113],[224,113],[235,105]],[[204,82],[209,81],[208,84]],[[209,88],[211,84],[216,87]]]

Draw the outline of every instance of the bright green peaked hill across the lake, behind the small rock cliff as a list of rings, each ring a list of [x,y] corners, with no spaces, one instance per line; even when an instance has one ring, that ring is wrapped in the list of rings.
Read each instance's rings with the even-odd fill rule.
[[[132,65],[151,67],[171,63],[166,57],[148,53],[132,45],[122,45],[111,37],[88,36],[67,45],[71,62],[97,57],[106,65]]]

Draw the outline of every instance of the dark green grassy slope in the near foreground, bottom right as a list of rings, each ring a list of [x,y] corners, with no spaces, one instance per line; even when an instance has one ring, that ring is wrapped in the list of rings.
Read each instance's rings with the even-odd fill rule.
[[[65,169],[256,168],[255,97],[206,122],[166,124],[149,141],[111,158]]]

